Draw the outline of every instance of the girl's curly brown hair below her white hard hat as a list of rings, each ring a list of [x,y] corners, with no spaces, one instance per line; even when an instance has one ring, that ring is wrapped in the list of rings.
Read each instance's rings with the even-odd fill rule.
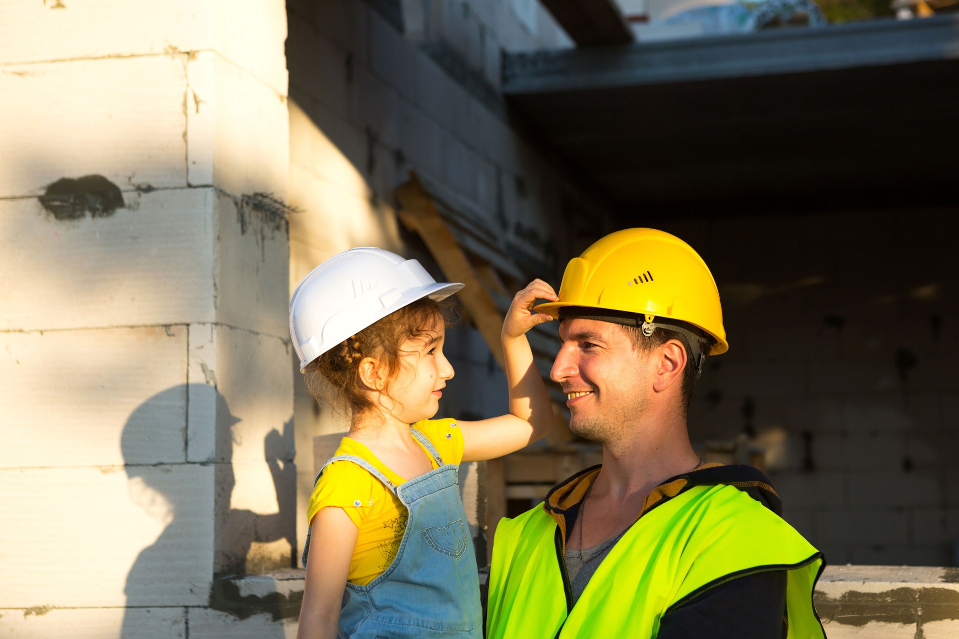
[[[375,399],[360,379],[363,357],[375,357],[386,364],[386,388],[380,392],[389,397],[389,386],[400,373],[403,344],[426,337],[437,320],[444,326],[451,324],[455,305],[454,298],[441,302],[430,298],[416,300],[343,340],[303,369],[310,394],[355,422],[358,416],[376,407]]]

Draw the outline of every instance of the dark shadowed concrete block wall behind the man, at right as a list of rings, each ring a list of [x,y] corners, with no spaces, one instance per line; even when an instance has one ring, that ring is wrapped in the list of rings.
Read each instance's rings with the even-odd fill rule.
[[[693,440],[754,435],[831,564],[959,560],[955,213],[657,220],[712,268],[729,335]]]

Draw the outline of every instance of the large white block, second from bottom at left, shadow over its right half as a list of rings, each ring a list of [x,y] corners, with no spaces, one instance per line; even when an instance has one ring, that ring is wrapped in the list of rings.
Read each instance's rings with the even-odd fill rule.
[[[0,470],[0,608],[205,605],[213,493],[194,465]]]

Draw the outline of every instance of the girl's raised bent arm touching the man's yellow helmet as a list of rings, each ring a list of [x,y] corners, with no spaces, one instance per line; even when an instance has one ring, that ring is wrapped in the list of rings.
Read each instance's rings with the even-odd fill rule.
[[[534,313],[537,299],[555,302],[556,291],[543,280],[533,280],[513,298],[503,321],[503,359],[509,385],[509,415],[479,422],[457,422],[463,433],[463,461],[502,457],[532,444],[552,427],[550,396],[540,377],[526,331],[550,322],[546,313]]]

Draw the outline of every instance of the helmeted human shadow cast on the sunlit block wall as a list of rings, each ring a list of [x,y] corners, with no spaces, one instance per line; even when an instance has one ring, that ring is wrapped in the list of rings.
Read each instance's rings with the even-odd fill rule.
[[[214,459],[198,463],[148,461],[154,447],[151,440],[157,414],[170,414],[170,407],[182,402],[188,391],[191,399],[204,394],[212,399],[209,394],[216,395]],[[186,432],[185,420],[180,421],[182,414],[171,417],[168,427],[183,431],[186,449],[195,433]],[[270,430],[264,440],[264,458],[278,505],[278,511],[270,514],[231,507],[236,484],[232,460],[234,426],[239,422],[215,387],[184,384],[144,401],[124,425],[121,450],[130,493],[152,516],[167,523],[129,570],[124,590],[128,609],[121,637],[143,635],[130,608],[208,605],[240,619],[266,613],[274,620],[290,616],[291,606],[298,610],[298,602],[281,601],[283,598],[275,593],[267,598],[243,597],[233,581],[224,579],[247,572],[290,568],[296,548],[292,419],[283,424],[282,431]],[[178,577],[175,583],[157,579],[158,567],[181,559],[184,554],[198,556],[203,565]]]

